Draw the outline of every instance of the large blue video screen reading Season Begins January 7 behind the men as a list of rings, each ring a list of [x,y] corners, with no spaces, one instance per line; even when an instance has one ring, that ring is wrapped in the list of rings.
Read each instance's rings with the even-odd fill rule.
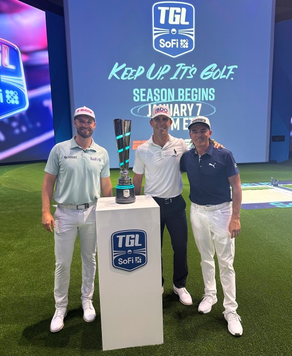
[[[190,118],[207,116],[238,163],[268,161],[273,0],[65,2],[75,106],[96,112],[94,139],[112,168],[113,120],[132,120],[133,167],[159,103],[171,135],[189,142]]]

